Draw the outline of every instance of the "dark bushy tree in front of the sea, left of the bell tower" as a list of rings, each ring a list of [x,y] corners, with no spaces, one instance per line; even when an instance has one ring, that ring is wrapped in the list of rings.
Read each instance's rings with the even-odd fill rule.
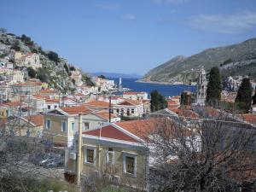
[[[166,98],[160,95],[160,93],[157,90],[153,90],[150,93],[150,96],[150,108],[152,112],[167,108]]]

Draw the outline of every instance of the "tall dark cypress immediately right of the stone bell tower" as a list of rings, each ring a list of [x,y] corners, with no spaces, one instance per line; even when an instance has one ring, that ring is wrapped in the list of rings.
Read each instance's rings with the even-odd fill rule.
[[[212,67],[207,84],[207,104],[216,106],[221,97],[221,78],[218,67]]]

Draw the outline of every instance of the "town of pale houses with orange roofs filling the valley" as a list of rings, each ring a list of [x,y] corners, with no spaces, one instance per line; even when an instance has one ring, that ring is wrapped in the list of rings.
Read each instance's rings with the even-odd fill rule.
[[[242,134],[247,135],[249,132],[249,136],[253,136],[249,148],[256,146],[253,131],[256,128],[255,103],[251,100],[248,111],[243,113],[211,105],[207,102],[209,81],[204,67],[198,70],[195,92],[185,90],[180,96],[167,96],[160,104],[154,103],[153,93],[149,97],[144,91],[125,90],[121,79],[119,86],[105,77],[95,77],[94,85],[84,84],[79,70],[73,71],[70,76],[75,91],[64,93],[49,87],[40,79],[29,76],[25,79],[24,67],[40,69],[40,56],[16,51],[14,62],[9,62],[6,57],[1,59],[0,135],[47,141],[49,148],[58,149],[59,155],[62,155],[51,157],[52,160],[43,158],[39,161],[46,168],[62,167],[62,177],[69,183],[81,186],[87,176],[106,172],[112,176],[109,182],[114,185],[153,190],[154,182],[149,182],[149,177],[152,177],[150,172],[158,172],[160,158],[155,156],[160,152],[155,151],[160,143],[154,140],[154,134],[166,137],[158,132],[160,127],[165,127],[163,121],[166,126],[172,125],[171,130],[174,132],[171,134],[175,139],[181,137],[175,132],[176,129],[185,131],[188,141],[193,137],[189,148],[193,148],[193,153],[200,156],[205,152],[202,147],[204,141],[200,137],[204,130],[198,132],[198,124],[201,123],[210,126],[221,121],[224,122],[223,129],[228,132],[241,132],[242,126],[245,131]],[[242,79],[248,77],[230,77],[227,89],[221,91],[219,102],[234,104]],[[251,82],[250,86],[255,90],[255,83]],[[162,105],[165,102],[166,105]],[[216,137],[214,131],[208,133]],[[223,137],[228,143],[229,134]],[[229,145],[222,148],[229,148]],[[178,153],[168,154],[168,158],[160,162],[162,165],[166,162],[172,166],[178,165]],[[253,158],[251,155],[242,154],[241,158]],[[58,160],[62,164],[57,163]],[[234,183],[253,186],[255,177],[251,174],[255,174],[255,171],[255,167],[250,170],[251,173],[241,171],[239,174],[245,174],[244,178],[239,177],[238,172],[232,172],[227,177]],[[247,187],[242,186],[239,189],[247,191],[244,190]]]

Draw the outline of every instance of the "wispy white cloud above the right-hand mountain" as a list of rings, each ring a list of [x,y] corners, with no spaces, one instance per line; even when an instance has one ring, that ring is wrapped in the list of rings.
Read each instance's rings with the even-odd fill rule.
[[[243,12],[233,15],[196,15],[187,24],[205,31],[235,34],[247,32],[256,26],[256,12]]]

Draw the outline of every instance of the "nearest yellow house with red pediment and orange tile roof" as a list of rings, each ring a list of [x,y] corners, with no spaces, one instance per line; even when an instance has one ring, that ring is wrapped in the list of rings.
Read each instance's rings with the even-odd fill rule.
[[[153,125],[150,119],[132,120],[84,131],[81,139],[77,135],[65,153],[65,178],[79,183],[80,178],[106,173],[113,184],[148,191],[149,148],[143,136]]]

